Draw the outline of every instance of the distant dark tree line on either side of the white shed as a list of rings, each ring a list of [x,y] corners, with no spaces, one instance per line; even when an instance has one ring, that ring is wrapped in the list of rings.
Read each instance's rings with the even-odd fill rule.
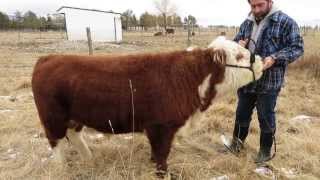
[[[30,29],[30,30],[61,30],[65,29],[63,16],[50,16],[46,17],[37,16],[32,11],[21,13],[17,11],[14,15],[9,16],[4,12],[0,12],[0,30],[9,29]],[[197,20],[194,16],[189,15],[182,19],[176,13],[159,15],[144,12],[140,17],[136,17],[132,10],[126,10],[121,16],[122,28],[124,30],[130,29],[130,27],[143,27],[148,29],[151,27],[182,27],[188,23],[193,27],[197,27]]]

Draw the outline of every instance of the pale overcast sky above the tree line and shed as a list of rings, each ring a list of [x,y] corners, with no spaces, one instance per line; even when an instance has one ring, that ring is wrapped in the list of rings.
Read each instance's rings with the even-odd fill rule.
[[[31,10],[37,15],[53,14],[61,6],[112,10],[133,10],[139,17],[143,12],[158,13],[155,0],[0,0],[0,11],[13,15],[15,11]],[[302,24],[320,24],[320,0],[274,0],[285,13]],[[240,25],[250,7],[247,0],[171,0],[177,14],[184,18],[188,14],[196,17],[198,24]]]

